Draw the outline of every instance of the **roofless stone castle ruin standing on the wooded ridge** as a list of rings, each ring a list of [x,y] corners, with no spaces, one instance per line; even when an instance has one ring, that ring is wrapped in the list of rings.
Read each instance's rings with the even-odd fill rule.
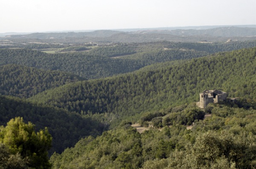
[[[220,100],[227,99],[227,93],[221,90],[204,90],[199,94],[200,101],[197,102],[197,106],[204,109],[209,103],[218,103]]]

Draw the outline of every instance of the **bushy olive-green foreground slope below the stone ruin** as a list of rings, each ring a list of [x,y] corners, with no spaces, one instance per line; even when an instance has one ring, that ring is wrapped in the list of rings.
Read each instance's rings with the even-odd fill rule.
[[[97,138],[81,139],[50,161],[53,169],[249,169],[256,166],[256,102],[248,101],[247,108],[233,102],[212,105],[212,116],[195,121],[192,130],[177,123],[139,134],[123,122]]]

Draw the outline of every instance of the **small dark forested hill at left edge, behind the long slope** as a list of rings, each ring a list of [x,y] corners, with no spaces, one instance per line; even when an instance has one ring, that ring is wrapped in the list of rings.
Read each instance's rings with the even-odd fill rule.
[[[21,65],[0,66],[0,94],[29,98],[44,90],[83,80],[59,71],[46,71]]]

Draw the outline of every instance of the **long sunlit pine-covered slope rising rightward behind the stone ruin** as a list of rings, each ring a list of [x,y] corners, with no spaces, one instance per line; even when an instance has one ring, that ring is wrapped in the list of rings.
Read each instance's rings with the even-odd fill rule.
[[[150,71],[75,82],[29,100],[84,115],[136,118],[141,112],[198,101],[205,89],[256,99],[256,48],[219,53]],[[135,116],[134,116],[135,115]]]

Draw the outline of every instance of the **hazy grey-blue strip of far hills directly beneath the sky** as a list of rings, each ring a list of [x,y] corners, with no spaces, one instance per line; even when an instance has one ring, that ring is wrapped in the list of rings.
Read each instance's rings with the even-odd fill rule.
[[[155,42],[168,40],[176,42],[209,41],[225,42],[227,39],[251,40],[256,39],[256,26],[203,26],[185,27],[179,29],[155,28],[127,30],[97,30],[90,32],[61,32],[61,33],[33,33],[9,35],[5,39],[37,39],[36,42]],[[3,38],[3,37],[2,37]],[[25,41],[24,41],[25,42]]]

